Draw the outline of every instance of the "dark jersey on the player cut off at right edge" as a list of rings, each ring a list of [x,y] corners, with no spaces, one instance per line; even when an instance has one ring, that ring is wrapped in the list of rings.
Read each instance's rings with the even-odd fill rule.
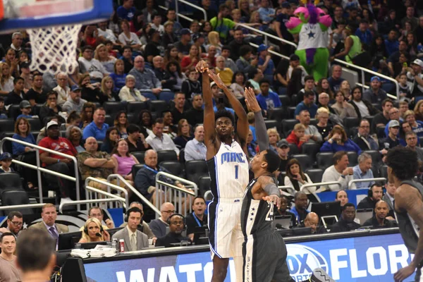
[[[422,184],[412,180],[403,181],[401,185],[403,184],[407,184],[416,188],[419,193],[423,195]],[[393,206],[395,207],[395,200]],[[417,223],[411,218],[410,214],[407,214],[407,212],[395,212],[395,215],[405,246],[410,252],[414,253],[417,249],[417,241],[419,240],[419,226],[417,226]]]

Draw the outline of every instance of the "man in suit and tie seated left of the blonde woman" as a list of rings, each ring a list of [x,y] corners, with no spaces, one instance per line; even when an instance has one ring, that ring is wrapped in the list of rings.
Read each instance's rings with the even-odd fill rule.
[[[44,204],[41,213],[42,221],[32,224],[28,229],[39,229],[47,232],[51,238],[56,240],[56,250],[59,243],[59,234],[69,232],[66,225],[56,223],[57,212],[54,204]]]

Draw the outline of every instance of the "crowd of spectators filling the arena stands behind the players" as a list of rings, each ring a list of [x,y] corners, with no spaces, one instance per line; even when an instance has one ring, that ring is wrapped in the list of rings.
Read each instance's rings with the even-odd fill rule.
[[[291,226],[310,227],[312,233],[325,233],[326,228],[339,232],[395,226],[396,188],[372,178],[386,178],[385,156],[393,147],[409,147],[423,161],[423,1],[320,1],[319,8],[333,23],[325,34],[330,74],[318,81],[300,66],[290,44],[265,40],[261,33],[247,28],[298,43],[298,36],[286,28],[302,5],[298,0],[191,2],[204,8],[207,20],[201,11],[185,5],[179,7],[180,13],[193,20],[176,20],[174,1],[123,0],[116,4],[110,20],[82,27],[79,66],[74,73],[30,71],[35,58],[27,33],[1,36],[1,137],[49,149],[39,152],[44,168],[67,176],[78,173],[82,181],[89,176],[106,180],[118,173],[147,200],[158,204],[156,196],[162,191],[156,188],[156,174],[174,173],[159,162],[161,152],[170,154],[166,160],[180,166],[179,176],[197,184],[201,176],[208,176],[195,173],[205,166],[206,155],[203,85],[195,71],[197,62],[204,60],[246,109],[245,87],[252,87],[257,95],[270,149],[281,158],[276,172],[279,185],[290,188],[292,196],[282,197],[276,214],[292,216]],[[358,55],[352,58],[353,53]],[[362,78],[365,85],[353,85],[345,79],[345,66],[334,59],[397,80],[398,99],[394,99],[397,90],[391,80],[366,73]],[[215,111],[233,112],[216,83],[207,87],[212,89]],[[247,148],[252,158],[258,150],[254,114],[248,118]],[[4,149],[0,177],[17,171],[27,191],[37,190],[37,173],[11,162],[17,159],[35,165],[35,150],[16,142],[5,143]],[[190,162],[194,168],[188,171]],[[43,177],[59,191],[61,202],[75,199],[71,180],[47,173]],[[186,189],[178,181],[161,180]],[[329,181],[339,185],[313,185]],[[96,181],[89,185],[106,190],[106,185]],[[302,189],[303,185],[307,188]],[[345,190],[361,188],[369,188],[369,194],[355,207]],[[307,210],[307,194],[324,191],[337,191],[333,200],[341,203],[342,212],[336,214],[338,222],[333,226],[322,226],[319,215]],[[131,200],[139,201],[128,192]],[[175,212],[176,208],[188,210],[188,201],[181,207],[161,202],[161,216],[149,224],[142,220],[142,205],[135,202],[128,208],[127,223],[113,235],[107,231],[113,223],[104,221],[101,208],[92,208],[80,242],[124,238],[127,251],[192,240],[195,226],[206,225],[207,216],[202,195],[190,200],[193,213],[186,219]],[[373,209],[374,214],[358,223],[356,209]],[[48,232],[57,242],[67,227],[55,223],[56,216],[56,207],[47,204],[42,221],[31,228]],[[13,241],[11,235],[18,237],[22,218],[19,212],[8,213],[7,227],[0,229],[0,243]],[[185,223],[188,228],[182,235]],[[3,254],[10,253],[1,245],[0,266]]]

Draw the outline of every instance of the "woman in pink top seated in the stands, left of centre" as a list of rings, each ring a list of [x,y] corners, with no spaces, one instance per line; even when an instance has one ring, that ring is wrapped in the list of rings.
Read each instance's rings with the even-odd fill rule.
[[[118,173],[125,178],[130,185],[134,185],[132,167],[134,164],[140,164],[140,162],[132,154],[129,153],[128,141],[125,139],[119,139],[114,147],[111,155],[111,159],[114,161],[114,173]]]

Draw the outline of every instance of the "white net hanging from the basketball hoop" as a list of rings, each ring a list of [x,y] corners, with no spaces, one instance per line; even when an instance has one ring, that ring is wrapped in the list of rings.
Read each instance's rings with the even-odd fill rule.
[[[78,67],[76,49],[82,25],[57,25],[27,30],[32,47],[30,69],[42,73],[73,73]]]

